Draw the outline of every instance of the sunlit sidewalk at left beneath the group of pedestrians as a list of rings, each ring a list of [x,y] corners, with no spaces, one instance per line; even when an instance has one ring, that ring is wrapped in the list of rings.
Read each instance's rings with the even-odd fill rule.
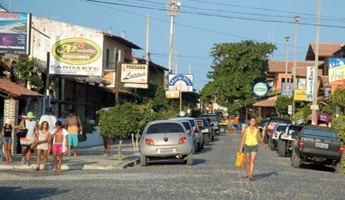
[[[112,144],[110,156],[105,157],[103,146],[78,148],[78,157],[63,157],[61,170],[116,170],[135,166],[139,163],[139,152],[134,152],[130,140],[124,140],[122,145],[123,161],[117,160],[118,143]],[[21,154],[12,155],[13,163],[0,162],[0,170],[33,170],[37,166],[36,152],[31,155],[30,166],[21,163]],[[41,157],[41,169],[43,158]],[[47,170],[54,167],[53,154],[50,154]]]

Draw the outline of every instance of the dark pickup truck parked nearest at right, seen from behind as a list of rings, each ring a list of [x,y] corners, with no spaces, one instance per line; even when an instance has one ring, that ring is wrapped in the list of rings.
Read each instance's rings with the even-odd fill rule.
[[[305,126],[297,135],[292,146],[291,166],[317,163],[332,166],[335,172],[342,170],[344,141],[333,128]]]

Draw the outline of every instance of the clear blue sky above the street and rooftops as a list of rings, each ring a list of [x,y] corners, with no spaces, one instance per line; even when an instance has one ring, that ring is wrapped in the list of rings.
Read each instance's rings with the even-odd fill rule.
[[[168,68],[171,0],[0,0],[12,12],[30,12],[37,17],[73,23],[112,34],[124,35],[145,48],[146,16],[150,14],[150,59]],[[289,57],[294,59],[294,16],[300,15],[297,60],[316,39],[317,0],[180,0],[175,17],[174,64],[179,74],[194,74],[194,89],[199,91],[211,81],[211,49],[215,43],[234,43],[251,39],[276,45],[272,59],[285,61],[289,36]],[[126,6],[124,6],[126,5]],[[134,7],[135,6],[135,7]],[[148,9],[150,8],[150,9]],[[345,1],[321,0],[321,43],[345,43]],[[284,23],[290,22],[290,23]],[[145,50],[134,50],[143,57]],[[175,63],[177,63],[175,65]]]

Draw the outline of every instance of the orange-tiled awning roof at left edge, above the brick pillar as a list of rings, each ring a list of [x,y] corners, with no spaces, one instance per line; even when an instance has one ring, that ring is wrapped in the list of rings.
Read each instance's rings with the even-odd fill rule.
[[[37,97],[37,98],[44,97],[43,94],[39,94],[38,92],[35,92],[33,90],[28,90],[24,88],[23,86],[19,86],[18,84],[13,83],[8,79],[3,79],[3,78],[0,78],[0,90],[19,99],[23,97]]]

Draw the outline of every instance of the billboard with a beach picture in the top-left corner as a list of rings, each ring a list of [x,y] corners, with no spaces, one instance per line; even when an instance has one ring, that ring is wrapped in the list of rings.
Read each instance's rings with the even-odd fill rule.
[[[31,14],[0,12],[0,53],[30,54]]]

